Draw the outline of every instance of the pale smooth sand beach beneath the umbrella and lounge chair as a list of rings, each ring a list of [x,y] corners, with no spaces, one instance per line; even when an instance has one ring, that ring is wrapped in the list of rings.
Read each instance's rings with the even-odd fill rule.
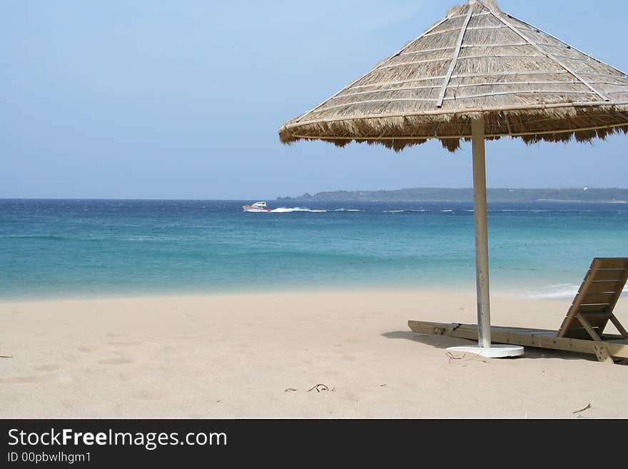
[[[558,328],[568,306],[494,296],[492,323]],[[535,348],[450,360],[469,342],[408,319],[475,323],[475,292],[0,303],[0,418],[628,417],[626,366]]]

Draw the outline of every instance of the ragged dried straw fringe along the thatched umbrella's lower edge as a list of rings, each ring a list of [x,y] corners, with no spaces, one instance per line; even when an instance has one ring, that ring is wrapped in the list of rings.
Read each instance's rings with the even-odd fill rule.
[[[574,138],[579,142],[594,138],[604,139],[614,133],[628,133],[628,106],[622,108],[623,112],[617,106],[597,106],[591,109],[559,108],[483,113],[486,138],[498,140],[511,136],[522,138],[528,144],[540,141],[568,142]],[[300,126],[300,133],[296,136],[290,131],[280,131],[280,140],[289,144],[298,140],[320,139],[340,147],[352,141],[370,145],[379,143],[386,148],[401,151],[436,138],[447,150],[456,151],[460,148],[461,140],[471,138],[471,118],[477,115],[475,112],[319,122]],[[308,131],[312,133],[309,134]],[[316,136],[319,134],[334,136],[321,138]]]

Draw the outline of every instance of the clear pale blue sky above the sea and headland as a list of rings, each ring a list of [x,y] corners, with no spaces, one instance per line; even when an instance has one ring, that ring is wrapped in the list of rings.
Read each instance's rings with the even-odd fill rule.
[[[0,0],[0,197],[257,199],[470,187],[470,145],[279,143],[450,0]],[[501,0],[628,69],[624,1]],[[621,33],[621,34],[620,34]],[[618,36],[619,34],[619,36]],[[490,187],[628,187],[627,136],[487,143]]]

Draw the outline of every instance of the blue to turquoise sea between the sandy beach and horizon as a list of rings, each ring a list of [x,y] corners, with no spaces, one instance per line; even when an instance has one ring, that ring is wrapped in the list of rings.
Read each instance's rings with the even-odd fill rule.
[[[474,288],[471,203],[0,200],[0,298]],[[490,203],[492,291],[571,296],[628,204]]]

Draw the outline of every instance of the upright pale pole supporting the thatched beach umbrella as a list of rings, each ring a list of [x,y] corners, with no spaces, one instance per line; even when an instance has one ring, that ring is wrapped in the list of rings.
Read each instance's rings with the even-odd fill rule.
[[[474,118],[471,121],[471,135],[473,141],[473,208],[475,218],[477,338],[481,348],[490,348],[490,288],[488,279],[488,228],[484,126],[484,116]]]

